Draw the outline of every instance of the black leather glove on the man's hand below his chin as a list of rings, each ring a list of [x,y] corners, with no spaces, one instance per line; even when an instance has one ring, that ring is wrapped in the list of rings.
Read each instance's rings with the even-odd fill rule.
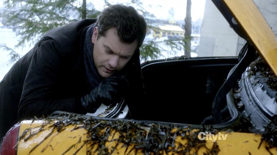
[[[106,106],[119,103],[129,87],[128,80],[120,75],[114,75],[101,81],[100,84],[81,97],[82,106],[94,113],[103,103]]]

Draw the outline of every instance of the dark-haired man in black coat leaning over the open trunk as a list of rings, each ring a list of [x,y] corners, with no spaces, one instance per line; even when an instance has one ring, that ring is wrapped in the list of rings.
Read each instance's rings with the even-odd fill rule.
[[[85,114],[125,98],[139,104],[139,47],[146,23],[133,7],[113,5],[98,20],[54,28],[0,83],[0,138],[19,118],[56,110]]]

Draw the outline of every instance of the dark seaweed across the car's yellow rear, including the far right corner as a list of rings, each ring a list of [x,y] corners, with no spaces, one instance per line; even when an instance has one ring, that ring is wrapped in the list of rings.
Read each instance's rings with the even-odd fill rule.
[[[43,126],[45,129],[51,129],[51,132],[39,142],[39,144],[34,146],[29,153],[37,149],[37,147],[49,138],[54,131],[62,132],[69,125],[75,126],[72,130],[80,128],[87,130],[83,144],[78,149],[76,148],[74,154],[77,154],[84,146],[86,146],[87,154],[112,154],[117,149],[121,149],[119,144],[123,144],[121,147],[126,148],[124,154],[130,154],[131,152],[135,152],[135,154],[138,152],[142,152],[143,154],[169,154],[170,152],[174,154],[198,154],[199,149],[202,147],[206,149],[206,152],[203,153],[205,155],[218,154],[220,148],[216,141],[213,143],[211,149],[207,148],[206,141],[198,138],[199,132],[212,132],[213,134],[217,134],[218,131],[250,132],[249,130],[252,127],[248,117],[241,117],[238,125],[227,129],[215,129],[212,125],[203,125],[196,130],[195,128],[181,124],[158,124],[120,119],[102,119],[68,113],[40,120],[44,120],[44,123],[39,127],[41,128]],[[276,147],[276,122],[276,119],[274,119],[266,128],[266,132],[262,135],[261,143],[262,141],[266,141],[266,149],[268,151],[270,148]],[[50,126],[46,126],[46,124],[50,124]],[[26,129],[20,136],[20,139],[36,135],[31,133],[27,134],[27,131],[31,129],[32,128]],[[38,130],[38,132],[43,131],[44,130]],[[187,142],[178,142],[177,137],[179,140],[186,140]],[[79,141],[71,145],[63,154],[75,148],[80,142],[81,137],[79,135]],[[109,142],[113,142],[115,146],[109,147],[109,145],[107,145]],[[245,141],[245,143],[247,142],[248,141]],[[98,145],[97,148],[95,148],[95,144]],[[52,145],[47,144],[43,150],[48,146],[53,149]],[[95,151],[93,152],[92,150],[94,148]]]

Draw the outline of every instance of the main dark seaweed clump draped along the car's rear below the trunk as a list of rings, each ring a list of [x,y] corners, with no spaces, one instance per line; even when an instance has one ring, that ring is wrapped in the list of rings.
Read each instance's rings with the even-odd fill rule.
[[[126,147],[125,154],[129,154],[131,151],[135,151],[136,153],[141,151],[144,154],[168,154],[169,152],[173,152],[175,154],[197,154],[197,151],[199,151],[202,147],[207,150],[205,154],[218,154],[220,151],[216,142],[213,144],[211,149],[208,149],[206,147],[206,141],[199,140],[198,138],[199,129],[195,131],[187,126],[162,123],[155,124],[150,122],[127,121],[119,119],[98,119],[68,113],[60,114],[55,117],[49,117],[44,120],[46,123],[42,126],[45,127],[47,123],[52,123],[52,125],[48,127],[50,130],[52,129],[52,131],[57,129],[58,132],[62,132],[68,125],[75,125],[73,130],[84,128],[88,131],[87,138],[83,140],[84,144],[78,148],[74,154],[76,154],[84,145],[88,148],[87,154],[95,154],[96,152],[98,152],[98,154],[112,154],[116,149],[118,149],[117,147],[119,147],[120,143],[123,144],[122,147]],[[53,123],[54,120],[56,121]],[[24,132],[25,134],[23,133],[20,139],[26,139],[24,137],[27,136],[26,133],[28,130],[30,129],[27,129]],[[109,140],[108,138],[114,137],[115,133],[118,133],[119,137],[117,136],[118,138]],[[46,138],[48,138],[51,134],[52,132],[50,132]],[[182,143],[181,141],[176,143],[176,141],[178,141],[177,139],[186,139],[187,143]],[[78,142],[80,143],[80,141],[81,139],[79,139]],[[106,143],[111,141],[116,142],[116,145],[112,147],[112,150],[109,150]],[[91,152],[91,150],[95,147],[95,144],[98,144],[98,147],[95,152]],[[128,149],[128,147],[132,145],[134,147]],[[35,146],[31,151],[36,149],[37,146]],[[72,145],[64,153],[72,149],[74,146]]]

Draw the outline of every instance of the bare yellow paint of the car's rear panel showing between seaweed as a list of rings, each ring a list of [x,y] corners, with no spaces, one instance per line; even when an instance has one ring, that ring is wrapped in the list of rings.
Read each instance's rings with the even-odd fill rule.
[[[43,124],[43,121],[22,121],[20,124],[20,131],[19,136],[26,131],[26,129],[32,128],[32,130],[29,130],[25,134],[25,139],[29,137],[30,133],[34,134],[31,138],[24,141],[24,139],[21,139],[18,141],[17,147],[17,154],[23,155],[23,154],[74,154],[76,151],[77,154],[87,154],[87,148],[88,145],[91,145],[91,143],[85,144],[84,141],[87,139],[87,130],[80,128],[74,130],[75,127],[81,126],[80,125],[69,125],[64,128],[61,132],[58,132],[56,129],[51,130],[48,128],[53,123],[47,124],[43,128],[41,128]],[[36,132],[39,129],[46,129],[43,132]],[[175,132],[176,129],[172,129],[172,132]],[[48,135],[51,134],[51,136],[48,137]],[[103,132],[103,131],[99,131]],[[105,143],[105,146],[109,149],[109,152],[113,150],[113,148],[116,146],[117,139],[119,137],[118,133],[114,134],[114,130],[111,129],[111,135],[114,135],[113,137],[110,136],[108,138],[108,141]],[[191,131],[192,134],[198,133],[199,131],[196,129],[193,129]],[[269,152],[266,150],[266,142],[263,141],[263,143],[260,146],[260,149],[258,149],[258,146],[260,144],[261,135],[256,135],[252,133],[240,133],[240,132],[221,132],[221,134],[227,134],[226,140],[216,140],[220,151],[218,154],[269,154]],[[205,139],[206,147],[201,147],[198,154],[203,154],[208,151],[208,149],[211,149],[213,146],[213,140],[208,139],[206,137]],[[178,136],[175,139],[175,148],[171,148],[172,151],[169,154],[174,154],[174,149],[178,148],[179,143],[186,144],[187,140],[182,140],[182,137]],[[38,145],[39,144],[39,145]],[[36,147],[37,146],[37,147]],[[98,152],[94,152],[97,148],[97,144],[91,149],[92,154],[98,154]],[[114,149],[113,154],[135,154],[135,149],[132,150],[132,148],[135,146],[132,144],[131,146],[128,146],[128,150],[126,151],[126,146],[122,147],[123,143],[119,143],[116,146],[116,149]],[[196,149],[196,148],[195,148]],[[79,151],[78,151],[79,150]],[[270,149],[271,153],[277,154],[276,148]],[[195,153],[195,150],[192,150],[190,154]],[[137,151],[137,154],[142,154],[141,150]],[[163,152],[163,154],[166,154]]]

